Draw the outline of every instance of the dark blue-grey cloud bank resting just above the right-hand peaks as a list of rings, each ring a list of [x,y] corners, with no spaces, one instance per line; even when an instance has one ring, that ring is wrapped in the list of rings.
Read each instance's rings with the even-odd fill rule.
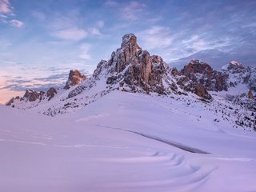
[[[171,67],[177,67],[181,69],[186,63],[190,62],[191,59],[197,58],[204,62],[209,63],[215,70],[220,70],[223,65],[229,63],[230,61],[236,60],[245,63],[246,66],[255,66],[256,58],[254,54],[244,54],[244,53],[226,53],[220,50],[202,50],[198,53],[191,54],[186,58],[179,58],[174,62],[170,62]]]

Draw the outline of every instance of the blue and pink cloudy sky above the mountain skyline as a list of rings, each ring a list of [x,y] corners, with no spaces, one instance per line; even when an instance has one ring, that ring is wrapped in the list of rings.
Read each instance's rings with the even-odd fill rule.
[[[256,66],[254,0],[0,0],[0,103],[91,74],[127,33],[170,66],[202,54]]]

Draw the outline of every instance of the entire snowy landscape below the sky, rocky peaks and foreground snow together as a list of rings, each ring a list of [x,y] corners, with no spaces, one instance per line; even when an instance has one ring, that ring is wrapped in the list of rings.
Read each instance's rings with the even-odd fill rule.
[[[1,189],[254,191],[255,74],[170,68],[126,34],[90,78],[0,106]]]

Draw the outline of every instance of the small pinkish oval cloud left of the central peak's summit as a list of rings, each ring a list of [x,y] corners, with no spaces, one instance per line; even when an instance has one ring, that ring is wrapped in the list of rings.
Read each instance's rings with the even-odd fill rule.
[[[86,30],[74,27],[63,30],[56,30],[52,32],[51,35],[56,38],[62,38],[65,40],[80,41],[87,37],[87,32]]]

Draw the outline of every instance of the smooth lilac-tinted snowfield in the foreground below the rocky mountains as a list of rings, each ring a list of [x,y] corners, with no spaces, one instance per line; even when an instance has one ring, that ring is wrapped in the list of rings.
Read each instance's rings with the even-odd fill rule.
[[[256,135],[208,105],[114,90],[54,118],[0,106],[0,188],[256,190]]]

